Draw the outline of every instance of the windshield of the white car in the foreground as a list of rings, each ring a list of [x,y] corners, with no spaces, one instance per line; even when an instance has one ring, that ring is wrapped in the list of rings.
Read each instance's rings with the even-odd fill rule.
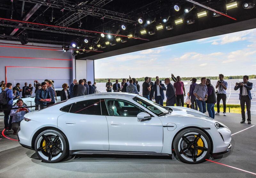
[[[156,115],[160,116],[164,113],[169,113],[169,110],[165,109],[163,106],[160,106],[153,101],[150,101],[140,95],[135,96],[132,98],[134,101],[139,103],[140,105],[144,106],[148,110],[154,112]]]

